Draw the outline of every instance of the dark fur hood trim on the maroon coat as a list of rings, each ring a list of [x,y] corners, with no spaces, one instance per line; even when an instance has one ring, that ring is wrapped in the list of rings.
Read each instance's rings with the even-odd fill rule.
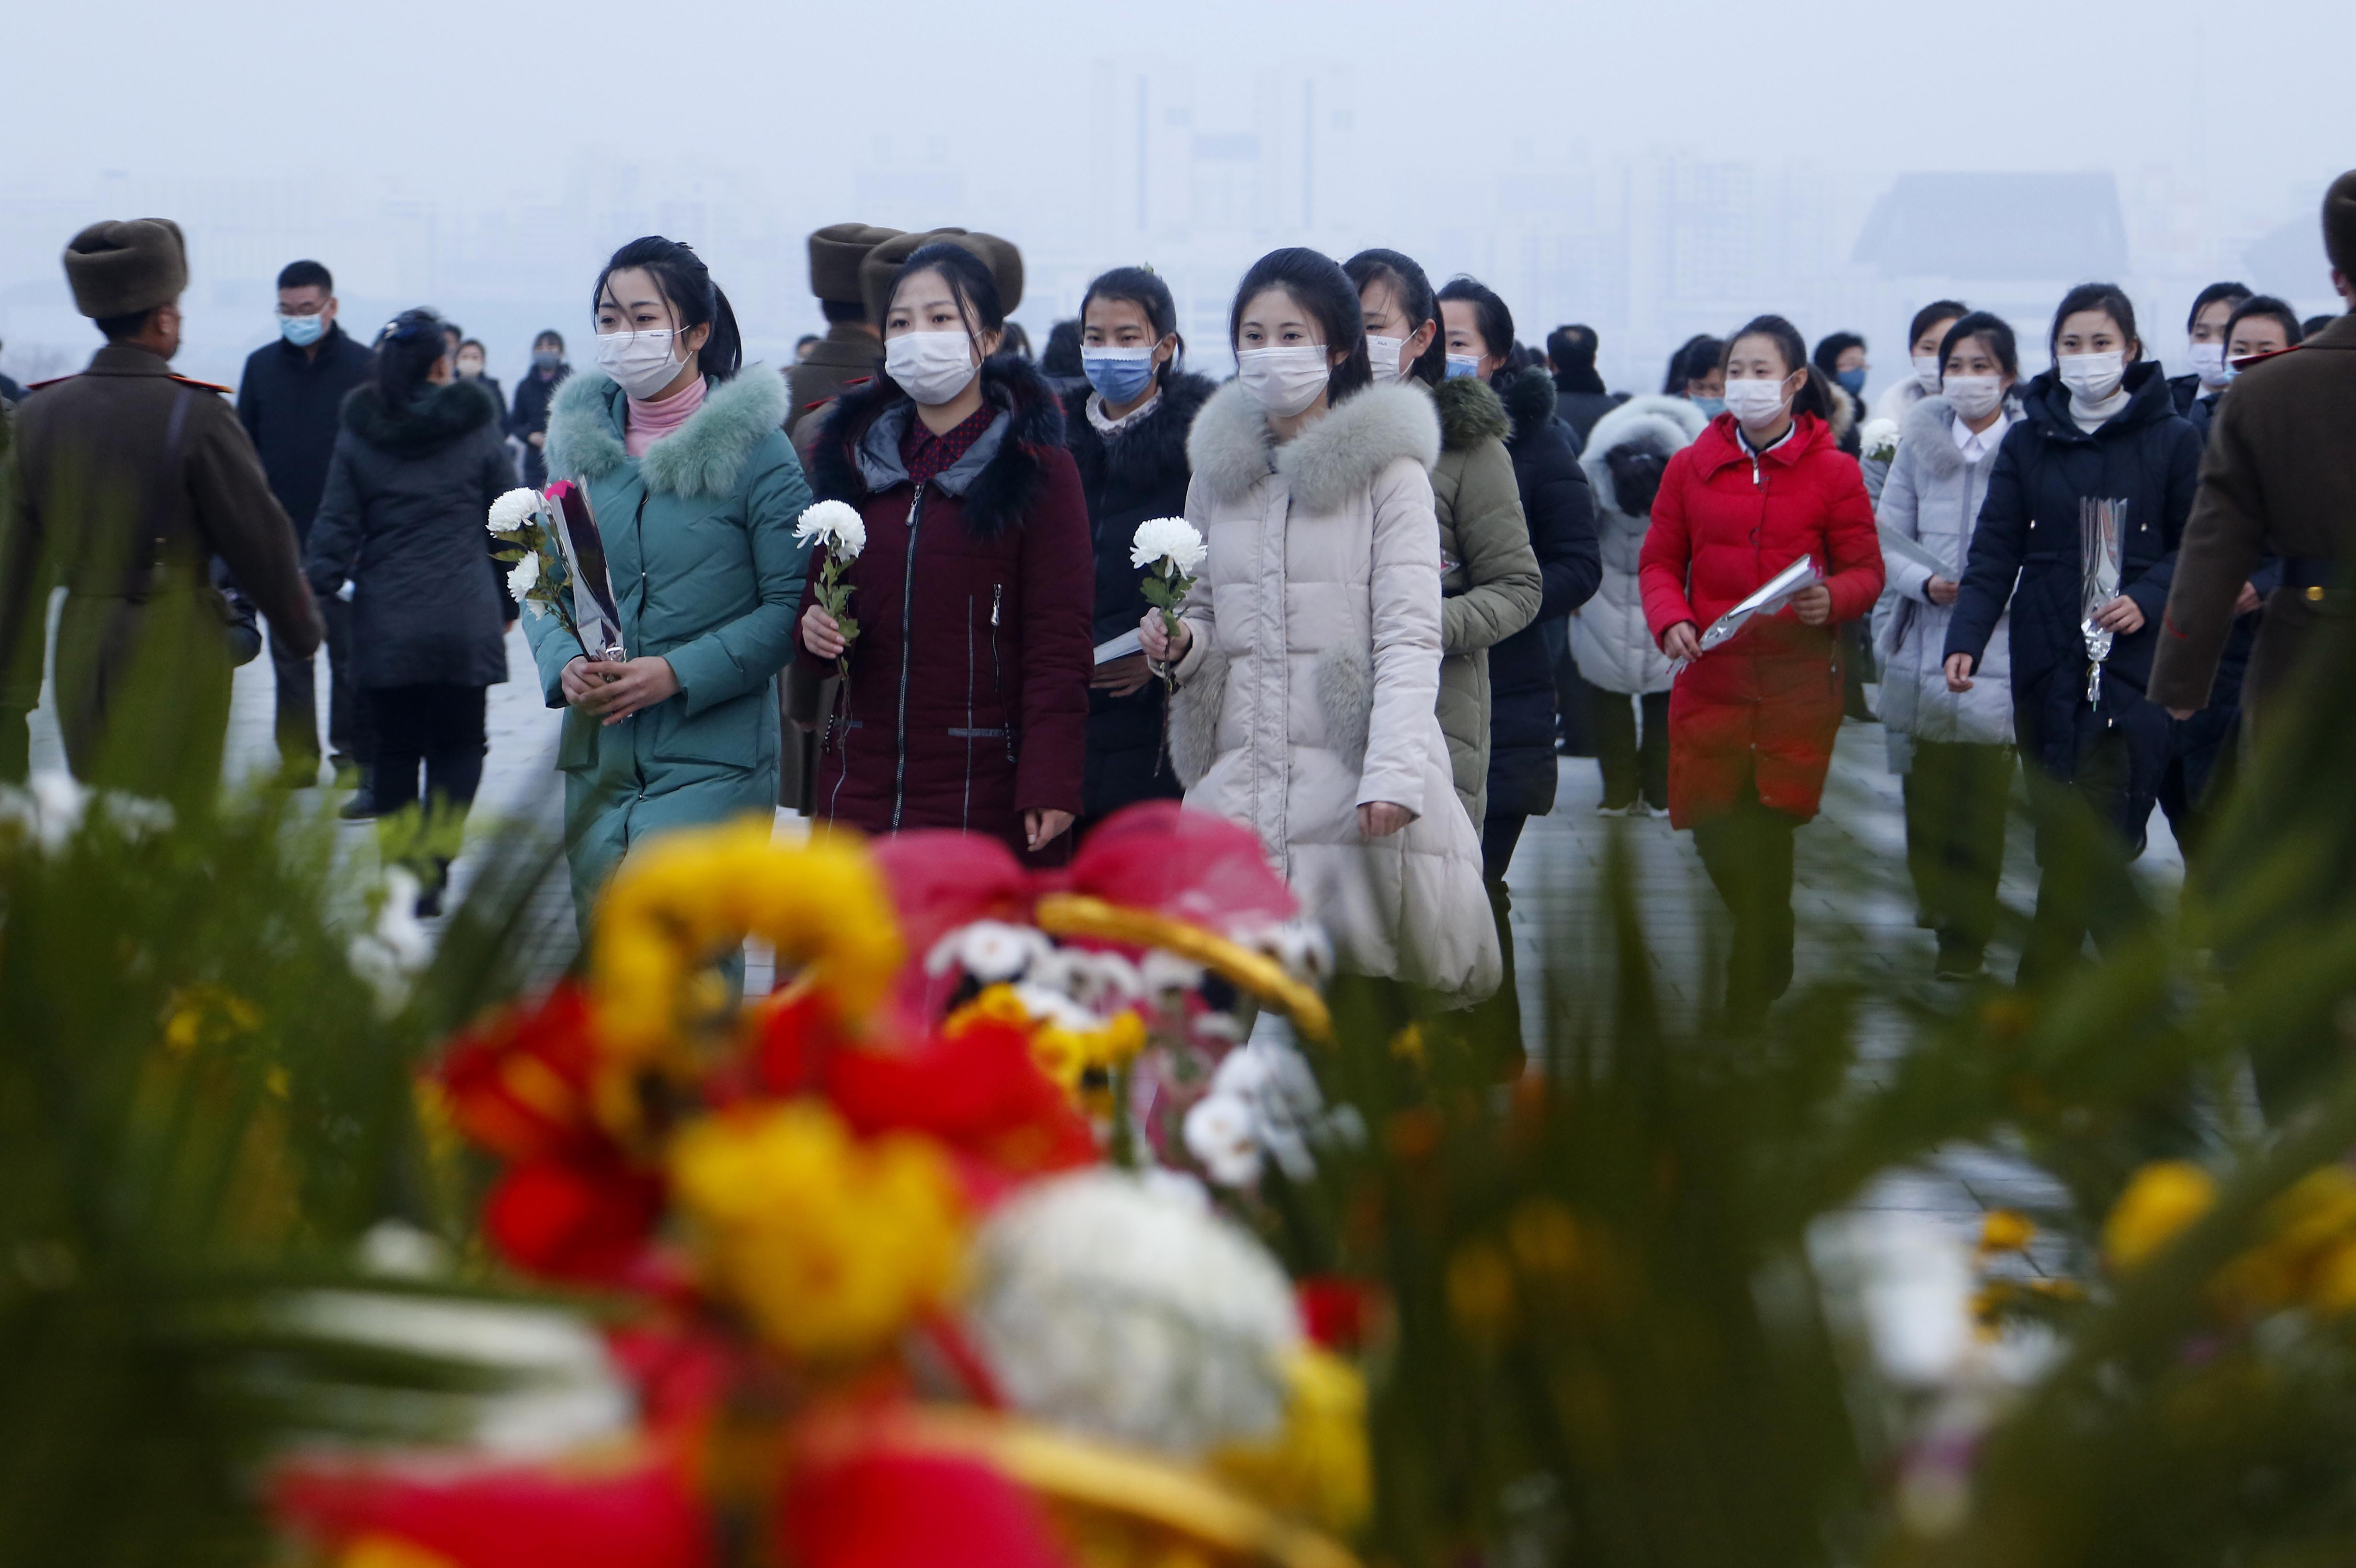
[[[1065,443],[1065,428],[1055,393],[1018,353],[982,360],[982,400],[999,417],[933,485],[964,499],[966,527],[975,537],[994,539],[1020,527],[1046,494],[1046,457]],[[905,485],[900,438],[914,417],[916,403],[888,377],[836,398],[810,452],[818,499],[862,506],[872,494]]]

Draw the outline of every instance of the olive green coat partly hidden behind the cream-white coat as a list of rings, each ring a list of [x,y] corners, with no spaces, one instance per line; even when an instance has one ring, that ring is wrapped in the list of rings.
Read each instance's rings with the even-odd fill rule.
[[[1538,614],[1546,579],[1529,549],[1522,487],[1505,433],[1513,421],[1489,384],[1456,377],[1432,388],[1440,405],[1440,732],[1449,737],[1456,798],[1472,831],[1489,815],[1489,645]]]

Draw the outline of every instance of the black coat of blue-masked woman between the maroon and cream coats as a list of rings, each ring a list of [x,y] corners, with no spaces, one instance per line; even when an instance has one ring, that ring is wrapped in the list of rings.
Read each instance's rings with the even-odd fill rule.
[[[1185,433],[1216,388],[1204,377],[1171,374],[1162,403],[1110,440],[1088,424],[1088,396],[1072,398],[1065,445],[1079,466],[1079,490],[1088,497],[1088,532],[1096,544],[1096,622],[1091,640],[1110,643],[1136,631],[1152,607],[1145,572],[1129,565],[1138,523],[1183,518],[1192,469]],[[1185,793],[1178,770],[1162,760],[1162,683],[1129,697],[1088,692],[1088,817],[1105,817],[1136,800],[1176,800]]]

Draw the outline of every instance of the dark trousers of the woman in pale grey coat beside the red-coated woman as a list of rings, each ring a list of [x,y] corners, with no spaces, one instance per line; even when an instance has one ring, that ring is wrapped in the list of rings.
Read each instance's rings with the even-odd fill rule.
[[[2012,746],[1915,742],[1906,775],[1906,871],[1939,958],[1977,965],[1996,935]]]

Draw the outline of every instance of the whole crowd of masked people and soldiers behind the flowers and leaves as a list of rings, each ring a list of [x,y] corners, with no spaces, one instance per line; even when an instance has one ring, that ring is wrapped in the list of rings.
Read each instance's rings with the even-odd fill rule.
[[[2356,174],[2323,231],[2349,297]],[[775,803],[1055,864],[1185,798],[1256,829],[1343,968],[1505,1017],[1505,873],[1557,749],[1595,756],[1602,810],[1694,833],[1727,1012],[1760,1017],[1793,975],[1793,836],[1871,685],[1937,975],[1979,977],[2014,760],[2130,855],[2153,808],[2196,848],[2245,706],[2337,612],[2325,516],[2356,516],[2356,356],[2292,353],[2356,325],[2236,283],[2193,301],[2172,381],[2113,285],[2069,290],[2036,377],[2012,323],[1932,301],[1868,410],[1857,332],[1762,313],[1612,393],[1590,327],[1531,346],[1475,278],[1286,247],[1244,271],[1213,384],[1147,266],[1096,278],[1034,360],[1015,245],[836,224],[810,235],[827,332],[792,365],[744,365],[695,250],[641,238],[594,275],[594,370],[542,332],[511,398],[457,325],[346,332],[294,261],[231,414],[170,374],[177,226],[97,224],[66,275],[106,346],[12,414],[0,763],[24,768],[61,582],[75,772],[203,798],[259,612],[285,782],[320,777],[325,640],[344,815],[462,819],[518,619],[483,516],[568,480],[622,643],[525,622],[582,909],[643,836]],[[813,501],[858,513],[855,553],[813,549]],[[1154,518],[1204,544],[1176,614],[1131,558]],[[2132,899],[2054,871],[2076,822],[2038,817],[2024,984]],[[429,890],[450,848],[419,852]]]

